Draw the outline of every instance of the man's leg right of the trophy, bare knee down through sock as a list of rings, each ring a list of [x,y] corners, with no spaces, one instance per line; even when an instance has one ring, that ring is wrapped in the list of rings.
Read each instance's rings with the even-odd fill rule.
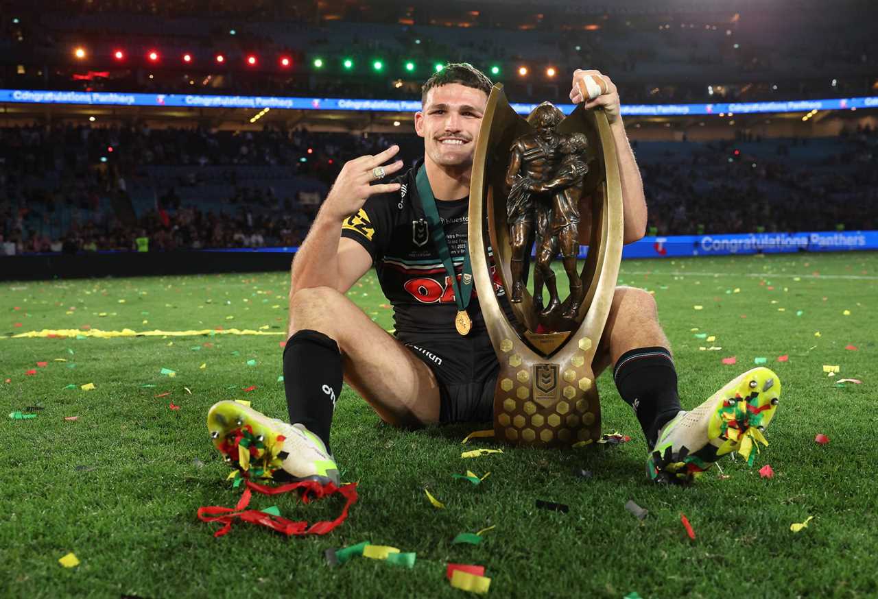
[[[648,446],[680,411],[671,344],[659,325],[655,299],[644,289],[616,287],[594,356],[595,378],[615,365],[619,395],[634,408]]]

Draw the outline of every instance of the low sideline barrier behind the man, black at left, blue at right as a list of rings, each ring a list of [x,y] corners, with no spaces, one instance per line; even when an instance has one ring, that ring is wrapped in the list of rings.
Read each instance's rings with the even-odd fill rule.
[[[193,275],[288,270],[299,247],[178,252],[31,253],[0,256],[0,281],[94,276]],[[878,250],[878,231],[750,233],[644,237],[623,247],[623,260],[752,253]],[[586,257],[580,248],[579,258]]]

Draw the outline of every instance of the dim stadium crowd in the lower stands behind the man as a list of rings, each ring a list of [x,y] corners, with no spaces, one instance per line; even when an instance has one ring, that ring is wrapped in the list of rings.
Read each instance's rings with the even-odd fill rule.
[[[410,134],[2,128],[0,248],[134,250],[138,238],[151,251],[297,246],[343,163],[392,143],[408,161],[422,153]],[[878,133],[858,127],[822,150],[828,143],[742,137],[657,151],[635,141],[651,232],[878,229]],[[816,160],[790,158],[807,145]],[[261,175],[245,177],[248,168]],[[203,197],[211,184],[219,202]]]

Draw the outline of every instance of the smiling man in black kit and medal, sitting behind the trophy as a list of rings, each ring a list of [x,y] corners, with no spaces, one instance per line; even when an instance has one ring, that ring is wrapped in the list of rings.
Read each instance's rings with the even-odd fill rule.
[[[580,86],[591,97],[583,98]],[[491,88],[470,64],[448,65],[422,88],[414,127],[425,156],[414,168],[379,182],[403,167],[401,160],[391,161],[397,146],[344,165],[292,264],[284,349],[291,424],[234,402],[217,403],[208,414],[214,445],[233,466],[258,463],[293,479],[337,482],[329,429],[342,381],[393,425],[492,419],[499,364],[471,289],[467,247],[472,157]],[[598,71],[577,70],[570,97],[606,113],[622,178],[624,242],[642,238],[643,185],[615,85]],[[589,239],[589,229],[583,218],[579,239]],[[392,303],[393,335],[345,296],[373,266]],[[511,317],[499,277],[494,292]],[[774,373],[756,368],[699,408],[681,411],[670,344],[655,301],[643,289],[615,290],[595,376],[610,365],[647,446],[660,450],[647,462],[657,481],[688,480],[745,445],[758,434],[748,432],[751,424],[771,419],[780,393]],[[241,448],[241,439],[248,447]]]

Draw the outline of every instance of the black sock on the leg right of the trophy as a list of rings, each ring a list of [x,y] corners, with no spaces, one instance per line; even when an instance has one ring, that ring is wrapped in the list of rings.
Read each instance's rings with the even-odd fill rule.
[[[613,371],[616,389],[634,408],[646,444],[652,448],[659,429],[677,415],[677,371],[664,347],[640,347],[623,353]]]

